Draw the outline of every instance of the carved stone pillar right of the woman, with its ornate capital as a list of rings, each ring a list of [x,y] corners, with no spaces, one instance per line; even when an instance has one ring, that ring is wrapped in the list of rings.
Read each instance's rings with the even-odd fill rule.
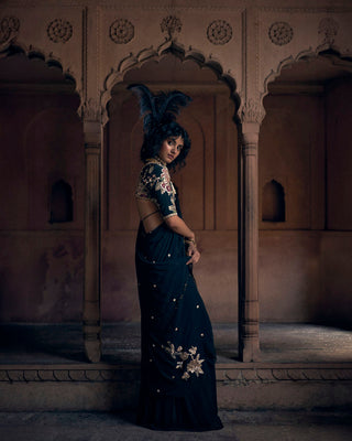
[[[258,170],[257,142],[264,114],[253,101],[242,109],[239,166],[239,355],[260,358],[258,336]]]

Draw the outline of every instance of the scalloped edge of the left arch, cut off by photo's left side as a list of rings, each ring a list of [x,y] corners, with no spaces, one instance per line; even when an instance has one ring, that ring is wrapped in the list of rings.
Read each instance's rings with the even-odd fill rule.
[[[55,56],[52,52],[46,53],[45,51],[34,47],[31,44],[26,45],[21,42],[9,42],[0,46],[0,58],[6,58],[9,55],[24,54],[29,60],[41,60],[48,67],[57,67],[62,71],[65,78],[72,80],[75,84],[75,93],[79,95],[81,100],[81,93],[77,88],[76,75],[70,71],[69,67],[65,66],[63,61]]]

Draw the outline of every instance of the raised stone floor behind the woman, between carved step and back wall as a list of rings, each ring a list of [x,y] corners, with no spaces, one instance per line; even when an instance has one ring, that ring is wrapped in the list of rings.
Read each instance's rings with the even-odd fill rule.
[[[237,324],[213,324],[218,363],[238,362]],[[352,332],[315,324],[262,324],[263,363],[351,363]],[[140,324],[107,323],[102,362],[140,361]],[[0,364],[86,362],[80,324],[2,324]],[[240,362],[238,362],[240,363]]]

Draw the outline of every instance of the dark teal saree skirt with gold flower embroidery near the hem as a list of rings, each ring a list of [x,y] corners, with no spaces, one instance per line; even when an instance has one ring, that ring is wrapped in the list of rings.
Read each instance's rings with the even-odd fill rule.
[[[135,266],[142,361],[138,423],[158,430],[221,429],[211,323],[186,262],[184,238],[140,225]]]

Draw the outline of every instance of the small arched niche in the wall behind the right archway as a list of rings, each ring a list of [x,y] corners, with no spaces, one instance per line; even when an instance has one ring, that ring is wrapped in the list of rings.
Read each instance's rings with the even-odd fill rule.
[[[285,222],[286,204],[283,185],[272,180],[264,185],[262,200],[263,222]]]

